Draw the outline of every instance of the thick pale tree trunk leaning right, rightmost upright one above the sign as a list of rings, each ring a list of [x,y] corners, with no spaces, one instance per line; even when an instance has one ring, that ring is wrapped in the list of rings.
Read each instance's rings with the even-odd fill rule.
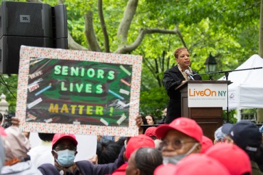
[[[129,27],[132,23],[132,19],[134,18],[137,6],[138,0],[129,0],[127,3],[123,18],[121,19],[121,23],[118,26],[117,31],[117,37],[121,39],[121,45],[127,42]]]

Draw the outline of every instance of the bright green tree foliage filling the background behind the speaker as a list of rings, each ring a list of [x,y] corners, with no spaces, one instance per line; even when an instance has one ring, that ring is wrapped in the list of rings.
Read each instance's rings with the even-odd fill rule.
[[[50,5],[58,4],[57,0],[45,0],[44,2]],[[119,42],[116,33],[127,2],[128,0],[103,1],[103,15],[111,52],[118,49]],[[64,1],[64,3],[67,9],[68,31],[77,43],[87,48],[89,46],[84,33],[84,14],[88,11],[93,12],[95,33],[104,51],[97,1],[71,0]],[[245,62],[251,55],[258,53],[259,24],[260,1],[140,0],[129,29],[127,43],[131,44],[136,40],[141,28],[173,30],[177,27],[190,50],[191,67],[194,70],[199,73],[205,72],[204,62],[210,52],[216,57],[217,71],[231,70]],[[154,65],[155,60],[160,59],[162,52],[166,51],[165,69],[167,69],[175,64],[173,51],[181,46],[184,44],[178,35],[154,33],[145,36],[140,46],[131,54],[142,55]],[[163,70],[160,65],[158,70],[158,72],[151,72],[146,62],[142,64],[140,111],[144,113],[162,111],[168,100],[165,90],[160,87],[155,78],[162,77]],[[220,77],[223,75],[213,75],[213,79]],[[208,76],[204,75],[203,79],[208,79]],[[10,77],[6,81],[16,82]],[[3,86],[2,88],[5,89]],[[14,100],[9,95],[8,98]],[[156,113],[156,115],[159,114]]]

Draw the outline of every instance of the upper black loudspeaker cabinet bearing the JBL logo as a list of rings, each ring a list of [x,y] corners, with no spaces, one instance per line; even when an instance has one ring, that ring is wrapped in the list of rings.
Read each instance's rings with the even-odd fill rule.
[[[45,3],[3,1],[1,5],[2,36],[53,38],[51,6]]]

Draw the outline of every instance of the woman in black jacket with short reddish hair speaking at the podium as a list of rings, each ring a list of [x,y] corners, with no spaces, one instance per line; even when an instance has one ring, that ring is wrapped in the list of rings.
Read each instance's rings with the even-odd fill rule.
[[[167,106],[166,124],[181,117],[181,93],[175,91],[175,88],[191,79],[201,80],[201,76],[194,75],[196,72],[190,68],[190,54],[186,47],[176,49],[173,55],[175,55],[177,65],[166,70],[162,80],[170,98]]]

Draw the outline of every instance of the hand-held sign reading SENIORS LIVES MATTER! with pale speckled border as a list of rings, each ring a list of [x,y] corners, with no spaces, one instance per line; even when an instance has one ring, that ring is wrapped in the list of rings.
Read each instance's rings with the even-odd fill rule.
[[[140,55],[21,46],[16,116],[23,131],[136,135]]]

